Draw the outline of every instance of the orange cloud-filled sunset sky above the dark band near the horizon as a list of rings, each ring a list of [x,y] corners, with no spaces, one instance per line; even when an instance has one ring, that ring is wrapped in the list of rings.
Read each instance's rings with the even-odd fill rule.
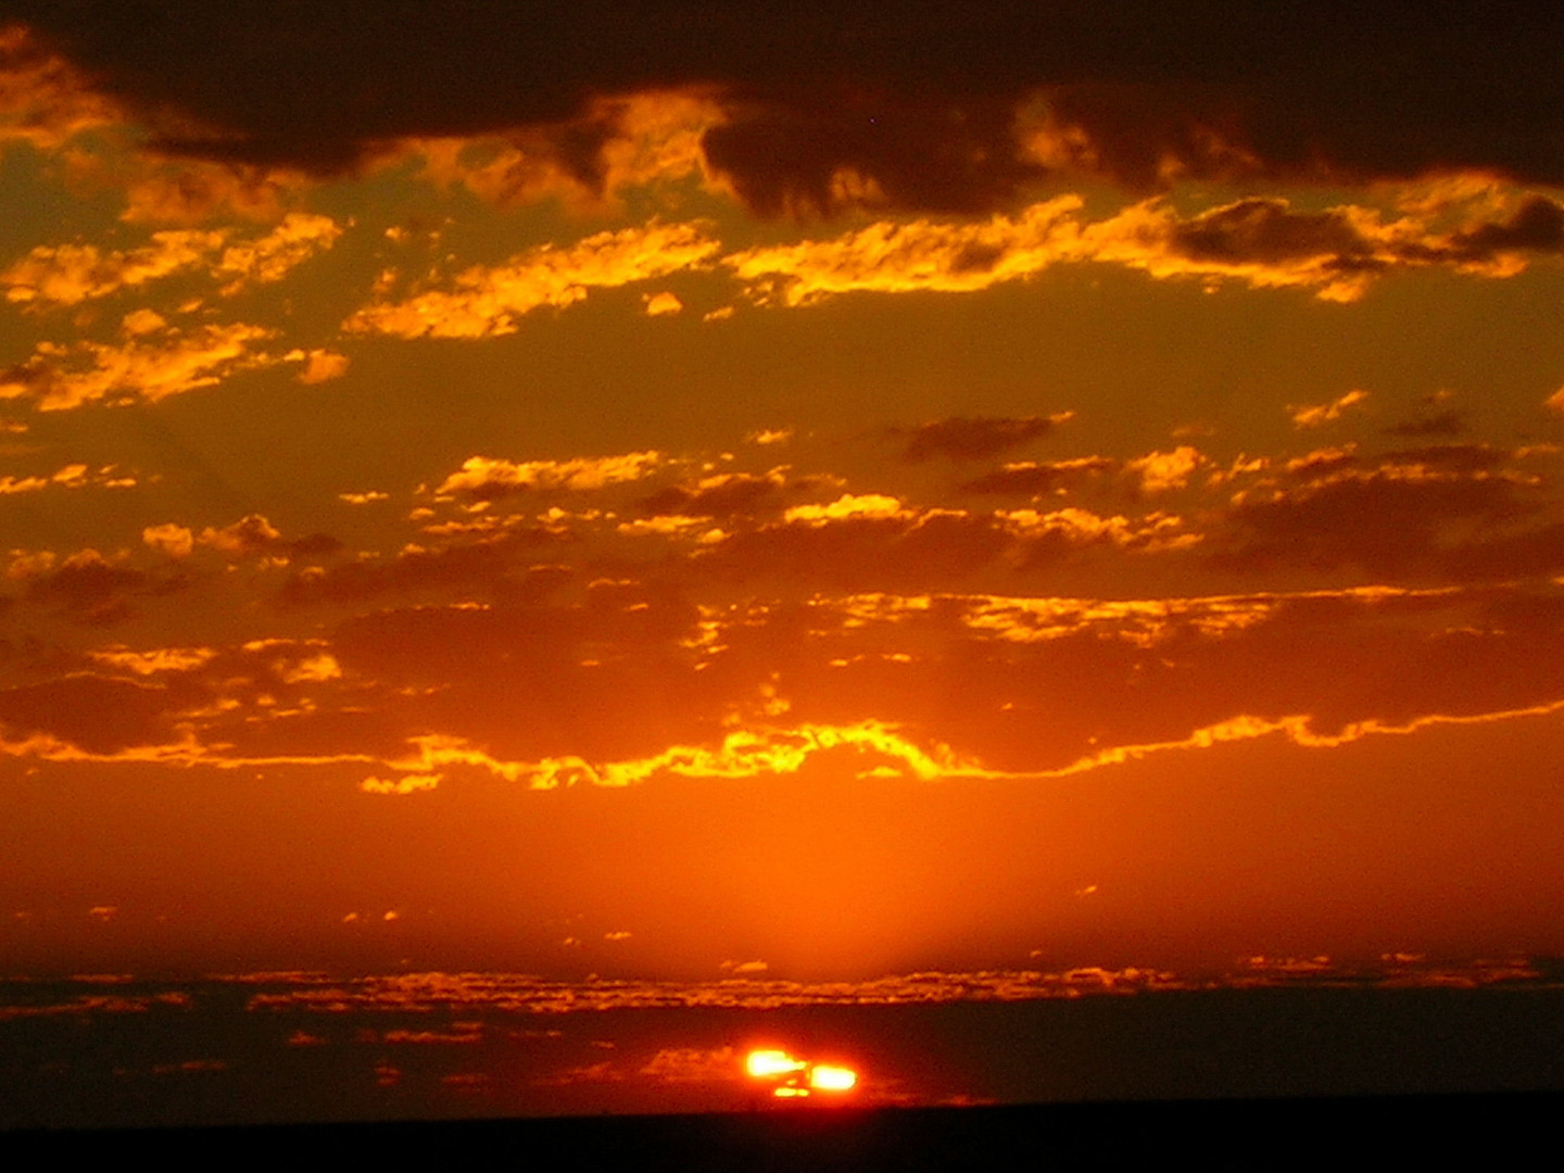
[[[0,6],[0,971],[1564,952],[1561,28],[978,9]]]

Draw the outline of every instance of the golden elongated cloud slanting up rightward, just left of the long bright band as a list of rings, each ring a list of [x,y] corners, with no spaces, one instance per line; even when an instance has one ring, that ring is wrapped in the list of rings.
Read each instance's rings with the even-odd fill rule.
[[[541,246],[499,266],[474,266],[450,289],[375,302],[343,328],[394,338],[491,338],[544,305],[563,308],[605,289],[701,264],[719,249],[701,224],[657,224],[588,236],[566,249]]]

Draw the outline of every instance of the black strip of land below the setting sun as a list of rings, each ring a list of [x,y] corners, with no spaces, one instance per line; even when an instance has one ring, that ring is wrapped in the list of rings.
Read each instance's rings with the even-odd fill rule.
[[[20,1131],[16,1168],[61,1157],[508,1170],[1198,1170],[1508,1165],[1555,1151],[1561,1093],[768,1110],[385,1125]],[[1542,1148],[1537,1148],[1537,1145]],[[30,1160],[28,1165],[17,1164]]]

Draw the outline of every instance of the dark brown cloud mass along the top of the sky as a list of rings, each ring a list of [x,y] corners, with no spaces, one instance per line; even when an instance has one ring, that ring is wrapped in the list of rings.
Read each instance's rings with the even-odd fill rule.
[[[708,86],[712,164],[759,211],[1003,206],[1049,170],[1564,181],[1564,16],[1476,5],[19,0],[11,16],[192,156],[349,170],[377,144],[571,125]],[[591,178],[601,130],[572,142]],[[1545,210],[1544,210],[1545,211]],[[1537,217],[1534,217],[1537,219]],[[1545,219],[1545,217],[1542,217]],[[1512,230],[1556,238],[1551,224]],[[1473,246],[1492,244],[1473,241]]]

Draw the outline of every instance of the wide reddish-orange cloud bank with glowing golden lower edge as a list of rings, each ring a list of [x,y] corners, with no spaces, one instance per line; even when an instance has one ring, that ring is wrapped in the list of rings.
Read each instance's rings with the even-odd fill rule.
[[[1323,748],[1553,712],[1564,696],[1559,596],[1547,583],[1187,599],[893,594],[885,585],[942,571],[937,560],[917,572],[895,565],[929,540],[920,527],[935,524],[971,527],[937,535],[957,546],[951,577],[970,572],[970,551],[982,549],[963,541],[995,543],[988,558],[1001,565],[1046,565],[1054,546],[1134,552],[1198,535],[1165,515],[931,518],[888,500],[860,510],[862,497],[851,499],[840,516],[823,505],[754,532],[777,543],[782,530],[820,563],[795,602],[760,593],[698,608],[665,583],[586,582],[558,568],[546,577],[561,599],[526,602],[519,590],[497,590],[507,576],[519,582],[519,549],[490,551],[486,565],[386,560],[378,580],[335,577],[377,563],[300,574],[297,582],[328,585],[314,601],[468,593],[472,582],[496,601],[364,613],[321,640],[103,644],[41,665],[45,680],[0,696],[0,752],[341,765],[360,790],[388,796],[458,790],[474,773],[543,790],[821,768],[979,779],[1062,776],[1273,734]],[[1556,560],[1556,532],[1551,549]],[[866,593],[830,593],[830,582],[854,577],[854,557],[891,566],[856,576]],[[166,588],[150,576],[105,579],[116,563],[102,555],[72,566],[84,574],[59,579],[59,590],[86,607]],[[59,602],[34,593],[59,569],[58,558],[13,560],[20,605]],[[713,574],[719,582],[730,569]],[[94,735],[97,710],[122,704],[136,723],[114,718],[117,732]]]

